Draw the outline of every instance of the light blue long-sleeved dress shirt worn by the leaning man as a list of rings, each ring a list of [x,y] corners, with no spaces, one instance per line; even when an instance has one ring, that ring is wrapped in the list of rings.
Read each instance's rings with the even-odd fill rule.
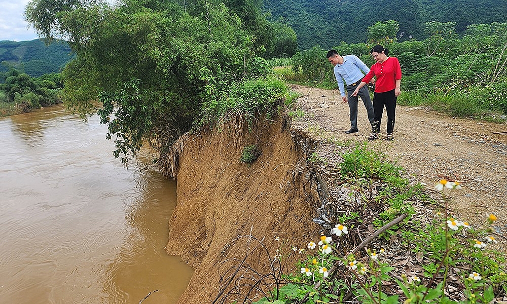
[[[365,77],[365,74],[361,73],[361,70],[368,74],[370,69],[366,64],[357,58],[355,55],[343,56],[343,63],[335,65],[333,71],[335,72],[336,81],[338,82],[338,88],[342,97],[345,96],[345,87],[343,81],[347,85],[358,82],[361,78]]]

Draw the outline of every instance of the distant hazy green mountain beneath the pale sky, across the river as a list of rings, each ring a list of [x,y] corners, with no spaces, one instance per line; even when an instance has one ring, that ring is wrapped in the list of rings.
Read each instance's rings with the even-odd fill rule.
[[[0,72],[12,66],[31,77],[59,72],[74,58],[66,42],[54,41],[46,46],[36,39],[32,41],[0,41]]]

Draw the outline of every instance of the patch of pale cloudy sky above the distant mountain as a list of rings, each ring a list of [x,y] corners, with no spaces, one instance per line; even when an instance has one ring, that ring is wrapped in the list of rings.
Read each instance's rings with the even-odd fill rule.
[[[23,12],[30,0],[0,0],[0,41],[37,39],[32,27],[27,28]]]

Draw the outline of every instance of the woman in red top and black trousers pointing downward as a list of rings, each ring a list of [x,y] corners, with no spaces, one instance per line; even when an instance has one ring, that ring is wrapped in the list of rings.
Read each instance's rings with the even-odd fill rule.
[[[400,62],[396,57],[388,57],[389,51],[380,45],[376,45],[372,49],[372,56],[377,61],[370,72],[366,74],[363,81],[357,86],[352,95],[356,96],[359,89],[366,86],[375,76],[375,93],[373,94],[373,109],[375,118],[372,122],[372,135],[368,140],[378,138],[380,133],[380,122],[382,121],[382,113],[384,105],[387,112],[387,136],[385,139],[392,140],[392,131],[394,130],[394,113],[396,110],[396,97],[400,96],[400,83],[402,81],[402,69]]]

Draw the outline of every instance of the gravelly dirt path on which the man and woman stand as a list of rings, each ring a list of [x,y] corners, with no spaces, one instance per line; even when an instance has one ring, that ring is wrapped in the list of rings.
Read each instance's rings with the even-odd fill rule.
[[[350,129],[349,108],[338,90],[291,85],[303,94],[298,105],[304,111],[295,118],[298,128],[316,137],[368,142],[371,126],[366,109],[358,105],[358,133]],[[396,107],[394,140],[387,141],[386,113],[380,138],[369,144],[386,151],[408,174],[432,189],[441,178],[458,181],[463,189],[454,192],[453,215],[481,224],[493,213],[500,237],[507,239],[507,124],[453,119],[424,107]]]

